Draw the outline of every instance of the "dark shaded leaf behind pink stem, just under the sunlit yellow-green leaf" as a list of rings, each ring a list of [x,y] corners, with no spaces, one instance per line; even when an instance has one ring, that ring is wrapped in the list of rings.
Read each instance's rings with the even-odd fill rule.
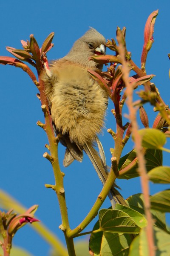
[[[133,149],[124,157],[122,157],[119,161],[119,171],[128,168],[127,172],[123,175],[119,175],[119,179],[131,179],[134,177],[138,177],[139,173],[137,172],[138,164],[136,163],[134,166],[132,165],[132,161],[136,158],[135,150]],[[146,160],[146,169],[149,172],[151,169],[162,165],[162,151],[158,149],[147,149],[144,158]]]

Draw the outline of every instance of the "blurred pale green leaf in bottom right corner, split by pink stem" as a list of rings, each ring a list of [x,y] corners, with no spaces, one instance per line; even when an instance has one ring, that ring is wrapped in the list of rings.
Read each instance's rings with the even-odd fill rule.
[[[154,244],[156,246],[156,256],[167,256],[170,253],[170,234],[153,227],[154,229]],[[130,245],[129,256],[150,256],[148,250],[147,234],[145,229],[142,229]]]

